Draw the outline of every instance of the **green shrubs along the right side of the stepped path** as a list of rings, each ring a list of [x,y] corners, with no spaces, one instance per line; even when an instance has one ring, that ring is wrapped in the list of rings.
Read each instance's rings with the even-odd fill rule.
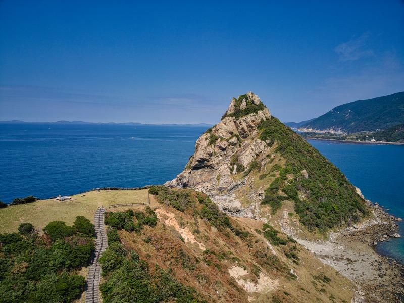
[[[153,190],[151,192],[155,192]],[[135,251],[129,252],[121,244],[118,229],[139,232],[132,227],[156,226],[157,216],[153,210],[147,207],[145,212],[128,210],[107,213],[106,217],[109,247],[99,259],[105,279],[100,285],[104,303],[204,302],[195,289],[178,282],[170,269],[158,265],[150,267]],[[128,218],[132,224],[128,223]]]

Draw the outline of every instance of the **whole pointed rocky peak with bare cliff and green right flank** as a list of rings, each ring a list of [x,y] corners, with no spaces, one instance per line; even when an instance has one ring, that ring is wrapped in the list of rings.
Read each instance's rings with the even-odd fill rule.
[[[204,192],[240,217],[285,217],[288,206],[286,217],[293,213],[291,222],[311,230],[367,215],[344,175],[252,92],[232,98],[221,121],[196,141],[184,171],[165,185]]]

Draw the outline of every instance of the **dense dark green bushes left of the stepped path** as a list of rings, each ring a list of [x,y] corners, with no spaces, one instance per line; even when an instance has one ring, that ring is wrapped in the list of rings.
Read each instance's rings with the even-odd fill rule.
[[[86,228],[82,229],[85,225]],[[77,270],[89,263],[94,226],[77,217],[73,226],[50,222],[38,235],[31,223],[0,234],[0,302],[72,302],[84,291]]]

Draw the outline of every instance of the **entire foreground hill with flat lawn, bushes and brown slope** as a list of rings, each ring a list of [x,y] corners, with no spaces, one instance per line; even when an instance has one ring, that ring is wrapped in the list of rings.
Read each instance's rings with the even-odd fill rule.
[[[354,283],[271,225],[229,217],[206,194],[191,189],[154,186],[149,192],[147,206],[107,209],[109,247],[99,259],[104,303],[350,302],[354,297]],[[94,190],[63,202],[0,209],[0,301],[84,302],[93,247],[84,254],[88,236],[66,232],[75,232],[76,216],[93,222],[98,206],[133,201],[147,201],[147,189]],[[35,230],[19,228],[26,222]]]

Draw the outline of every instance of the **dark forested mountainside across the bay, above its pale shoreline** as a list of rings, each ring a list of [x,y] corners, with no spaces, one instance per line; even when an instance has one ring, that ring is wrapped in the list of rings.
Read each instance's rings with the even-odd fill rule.
[[[404,123],[404,92],[337,106],[301,127],[356,133],[383,130],[401,123]]]

